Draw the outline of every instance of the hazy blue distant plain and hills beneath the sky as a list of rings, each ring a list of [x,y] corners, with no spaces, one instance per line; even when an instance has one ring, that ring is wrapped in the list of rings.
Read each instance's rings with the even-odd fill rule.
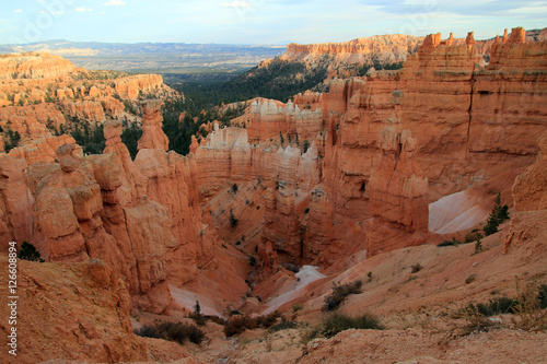
[[[284,52],[284,46],[48,40],[0,45],[0,54],[46,51],[91,70],[183,74],[238,73]]]

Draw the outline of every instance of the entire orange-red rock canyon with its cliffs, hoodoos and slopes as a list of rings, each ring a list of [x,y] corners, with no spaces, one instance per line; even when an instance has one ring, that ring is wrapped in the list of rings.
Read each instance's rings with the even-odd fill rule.
[[[340,69],[353,62],[347,54],[385,39],[290,45],[281,58],[335,55],[333,69]],[[40,337],[33,319],[51,322],[62,342],[28,350],[25,360],[208,362],[195,348],[136,337],[129,315],[178,317],[195,300],[221,316],[289,313],[301,303],[301,317],[313,321],[334,283],[365,281],[369,272],[366,291],[345,303],[347,312],[429,307],[433,316],[494,287],[513,292],[514,274],[544,279],[547,42],[523,28],[488,45],[473,33],[389,39],[403,50],[386,54],[404,60],[403,69],[334,77],[328,93],[306,91],[287,103],[254,98],[231,127],[213,122],[207,138],[194,138],[186,156],[168,151],[162,130],[162,99],[175,92],[161,77],[100,77],[58,56],[0,58],[0,126],[22,136],[21,146],[0,155],[0,244],[28,242],[46,260],[21,265],[25,304],[36,312],[22,325],[35,348],[54,338]],[[103,154],[84,155],[71,137],[55,136],[51,128],[72,122],[66,115],[103,125]],[[120,139],[126,118],[142,125],[135,160]],[[434,246],[481,228],[499,192],[511,221],[485,238],[484,253]],[[423,275],[405,281],[417,261]],[[296,277],[292,270],[303,266],[321,274]],[[464,283],[470,272],[482,280]],[[73,314],[53,307],[55,291]],[[104,328],[93,324],[102,318]],[[376,336],[312,341],[303,362],[337,350],[333,340],[348,348],[347,360],[359,357],[353,334]],[[544,332],[537,340],[545,342]],[[429,355],[441,355],[428,345]],[[230,355],[260,361],[263,351]],[[294,361],[300,350],[284,354],[279,361]]]

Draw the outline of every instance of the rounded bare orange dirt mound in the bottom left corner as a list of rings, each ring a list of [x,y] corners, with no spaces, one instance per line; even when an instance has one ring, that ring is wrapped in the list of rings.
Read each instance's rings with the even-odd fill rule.
[[[5,255],[0,255],[0,262],[8,266]],[[132,333],[126,285],[101,260],[62,265],[20,260],[18,294],[19,313],[25,313],[18,317],[18,333],[24,332],[18,337],[18,362],[148,362],[163,352]],[[9,306],[2,305],[0,313],[9,317]],[[0,330],[9,334],[5,327]],[[167,357],[168,352],[176,352],[177,359],[189,356],[175,343],[165,342],[162,349]],[[3,351],[0,360],[12,363],[11,356]]]

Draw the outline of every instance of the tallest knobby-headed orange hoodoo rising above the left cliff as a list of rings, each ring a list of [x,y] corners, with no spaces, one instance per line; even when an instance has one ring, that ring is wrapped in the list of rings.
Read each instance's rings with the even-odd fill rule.
[[[162,130],[163,117],[160,99],[149,99],[141,104],[142,110],[142,137],[137,149],[161,149],[167,151],[170,141]]]

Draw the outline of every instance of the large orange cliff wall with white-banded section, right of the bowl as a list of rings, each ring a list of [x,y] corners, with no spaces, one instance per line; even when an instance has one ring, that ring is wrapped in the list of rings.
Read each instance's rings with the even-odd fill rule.
[[[333,81],[328,94],[288,104],[255,99],[247,130],[217,131],[196,150],[199,185],[209,186],[201,191],[214,196],[216,178],[223,188],[259,180],[264,226],[253,221],[249,232],[261,228],[253,244],[271,244],[280,262],[330,265],[362,248],[375,255],[423,243],[429,202],[517,171],[538,153],[547,45],[524,43],[523,34],[491,40],[487,68],[477,62],[486,45],[473,33],[465,40],[435,34],[400,71]],[[333,47],[312,48],[344,52]],[[304,143],[315,157],[304,156]],[[226,226],[230,210],[216,203],[213,221]],[[235,231],[226,240],[247,236]]]

